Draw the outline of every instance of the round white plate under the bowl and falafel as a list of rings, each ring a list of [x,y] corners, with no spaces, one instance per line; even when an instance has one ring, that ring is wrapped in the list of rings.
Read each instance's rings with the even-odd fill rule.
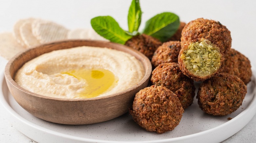
[[[255,115],[255,73],[253,69],[252,81],[247,85],[247,94],[237,111],[224,117],[207,115],[199,108],[195,98],[194,103],[185,110],[180,124],[173,131],[164,134],[145,131],[128,113],[91,125],[62,125],[36,118],[13,99],[3,73],[0,74],[0,102],[6,109],[7,119],[11,124],[37,142],[215,143],[237,133]],[[198,84],[196,83],[197,87]],[[229,117],[232,119],[228,120]]]

